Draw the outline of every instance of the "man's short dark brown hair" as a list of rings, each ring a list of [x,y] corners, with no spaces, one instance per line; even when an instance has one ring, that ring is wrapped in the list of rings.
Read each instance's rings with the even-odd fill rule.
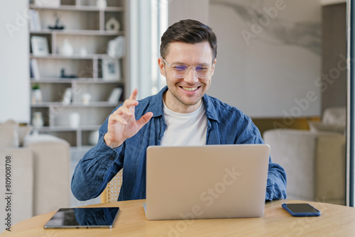
[[[169,26],[161,37],[160,56],[165,58],[170,43],[176,41],[192,44],[207,41],[212,48],[212,60],[217,57],[217,37],[212,28],[200,21],[187,19]]]

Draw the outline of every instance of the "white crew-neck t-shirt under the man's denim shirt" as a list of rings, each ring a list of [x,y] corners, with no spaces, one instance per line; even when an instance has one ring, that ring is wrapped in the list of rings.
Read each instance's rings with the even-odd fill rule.
[[[163,104],[167,128],[160,145],[206,145],[207,118],[203,102],[189,114],[176,113]]]

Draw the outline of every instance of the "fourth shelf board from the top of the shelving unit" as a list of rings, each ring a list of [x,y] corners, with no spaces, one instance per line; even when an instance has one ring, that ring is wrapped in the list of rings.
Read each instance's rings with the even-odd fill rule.
[[[72,78],[72,79],[65,79],[65,78],[60,78],[60,77],[53,77],[53,78],[40,78],[38,80],[31,78],[31,83],[36,84],[36,83],[63,83],[63,84],[68,84],[68,83],[93,83],[93,84],[118,84],[118,86],[124,86],[124,82],[121,82],[121,80],[117,81],[105,81],[102,78]]]

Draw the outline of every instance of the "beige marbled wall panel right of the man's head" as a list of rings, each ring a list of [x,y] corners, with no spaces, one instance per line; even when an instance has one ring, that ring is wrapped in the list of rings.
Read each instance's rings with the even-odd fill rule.
[[[320,116],[320,1],[210,0],[209,25],[211,96],[253,118]]]

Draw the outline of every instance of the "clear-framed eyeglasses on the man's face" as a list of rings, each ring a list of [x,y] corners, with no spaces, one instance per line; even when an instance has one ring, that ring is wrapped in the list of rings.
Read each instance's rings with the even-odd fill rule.
[[[212,73],[213,66],[211,65],[195,65],[195,66],[187,66],[181,63],[173,63],[172,65],[168,64],[168,62],[163,59],[166,65],[170,67],[170,69],[174,72],[174,77],[176,78],[185,78],[189,72],[190,68],[194,69],[196,77],[206,78],[209,77]]]

